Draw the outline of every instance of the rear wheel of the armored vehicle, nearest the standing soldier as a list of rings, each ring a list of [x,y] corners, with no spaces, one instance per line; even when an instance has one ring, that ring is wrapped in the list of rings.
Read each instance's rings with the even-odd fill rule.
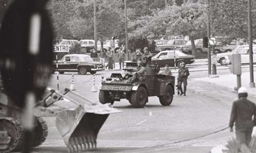
[[[159,96],[159,101],[162,106],[169,106],[172,104],[174,97],[173,88],[170,85],[167,85],[164,90],[164,95]]]

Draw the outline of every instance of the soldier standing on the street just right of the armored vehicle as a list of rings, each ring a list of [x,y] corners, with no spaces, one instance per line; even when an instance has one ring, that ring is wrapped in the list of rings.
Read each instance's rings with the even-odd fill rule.
[[[179,76],[178,76],[178,87],[180,90],[180,95],[184,94],[186,96],[186,90],[187,90],[187,76],[189,75],[188,68],[185,67],[185,63],[180,63],[180,69],[179,69]],[[182,91],[182,85],[184,87],[184,92]]]

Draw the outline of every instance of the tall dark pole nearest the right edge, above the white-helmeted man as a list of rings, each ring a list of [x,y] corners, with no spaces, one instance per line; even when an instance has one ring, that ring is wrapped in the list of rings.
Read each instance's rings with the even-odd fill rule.
[[[248,39],[249,39],[249,60],[250,60],[250,88],[255,88],[253,80],[253,57],[252,57],[252,30],[251,30],[251,0],[248,0]]]

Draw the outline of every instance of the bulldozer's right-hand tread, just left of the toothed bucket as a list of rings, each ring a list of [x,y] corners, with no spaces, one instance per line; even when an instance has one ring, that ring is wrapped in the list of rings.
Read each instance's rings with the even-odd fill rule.
[[[35,127],[35,137],[32,147],[36,147],[45,142],[48,136],[48,126],[44,118],[38,117],[37,126]]]

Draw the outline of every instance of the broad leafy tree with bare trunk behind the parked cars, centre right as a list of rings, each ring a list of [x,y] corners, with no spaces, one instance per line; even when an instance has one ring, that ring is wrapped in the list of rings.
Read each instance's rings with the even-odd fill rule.
[[[156,10],[152,15],[145,15],[130,22],[130,39],[156,39],[170,35],[189,36],[193,55],[197,55],[194,40],[206,35],[206,5],[184,3],[173,5],[163,10]]]

